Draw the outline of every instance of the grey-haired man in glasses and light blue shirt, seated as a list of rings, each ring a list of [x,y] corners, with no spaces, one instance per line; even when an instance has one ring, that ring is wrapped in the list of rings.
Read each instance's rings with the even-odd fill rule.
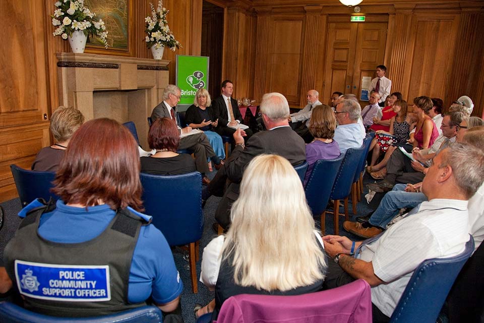
[[[338,126],[334,131],[333,139],[339,145],[341,153],[349,148],[359,148],[365,138],[364,129],[358,124],[361,115],[361,106],[351,99],[343,99],[336,105],[334,111]]]

